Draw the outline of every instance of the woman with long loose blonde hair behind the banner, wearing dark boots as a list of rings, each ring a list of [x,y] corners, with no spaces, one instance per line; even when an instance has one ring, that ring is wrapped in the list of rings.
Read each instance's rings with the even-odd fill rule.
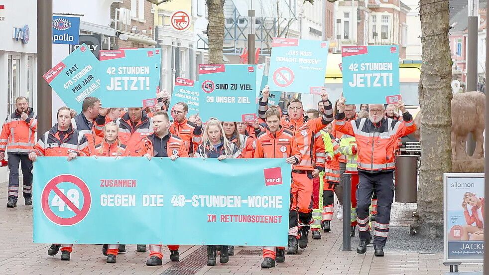
[[[207,122],[206,130],[204,131],[204,140],[199,145],[194,157],[217,158],[223,160],[226,158],[238,158],[240,149],[226,138],[223,126],[217,119],[211,118]],[[221,247],[221,256],[219,262],[226,264],[229,261],[228,246]],[[216,246],[207,246],[207,265],[216,265]]]

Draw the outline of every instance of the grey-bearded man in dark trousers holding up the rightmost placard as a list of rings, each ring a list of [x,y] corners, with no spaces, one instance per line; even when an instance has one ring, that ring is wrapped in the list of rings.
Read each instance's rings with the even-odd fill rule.
[[[357,225],[360,235],[358,254],[367,251],[370,243],[368,208],[373,190],[377,193],[377,220],[374,226],[374,255],[383,257],[389,233],[390,209],[394,199],[394,151],[397,140],[413,133],[416,125],[402,101],[398,102],[403,122],[385,118],[383,104],[370,104],[368,118],[345,121],[345,98],[338,102],[336,130],[354,136],[358,147],[359,188],[357,190]]]

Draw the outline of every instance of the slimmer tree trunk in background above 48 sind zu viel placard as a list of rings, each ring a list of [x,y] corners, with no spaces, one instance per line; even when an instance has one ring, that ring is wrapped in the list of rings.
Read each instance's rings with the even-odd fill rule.
[[[209,24],[209,63],[223,63],[224,44],[224,0],[206,0]]]

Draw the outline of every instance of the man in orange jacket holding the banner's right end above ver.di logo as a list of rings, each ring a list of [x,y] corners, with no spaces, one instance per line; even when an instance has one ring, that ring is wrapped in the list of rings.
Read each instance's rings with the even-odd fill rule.
[[[265,114],[266,129],[256,137],[255,158],[286,158],[287,163],[298,164],[302,160],[297,142],[291,132],[280,125],[280,113],[275,108],[268,109]],[[295,208],[294,208],[295,209]],[[291,211],[292,213],[292,211]],[[297,226],[297,215],[291,215],[292,227]],[[269,269],[277,263],[285,262],[285,248],[264,247],[261,268]]]

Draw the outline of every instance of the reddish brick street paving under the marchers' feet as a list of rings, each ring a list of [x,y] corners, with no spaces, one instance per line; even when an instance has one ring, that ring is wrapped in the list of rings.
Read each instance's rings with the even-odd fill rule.
[[[322,233],[322,240],[309,240],[309,246],[300,255],[286,256],[286,262],[276,268],[261,270],[261,250],[258,247],[236,247],[235,256],[226,265],[207,267],[206,250],[202,246],[183,246],[181,261],[169,262],[165,251],[163,266],[146,267],[147,253],[137,253],[135,245],[127,246],[127,253],[117,257],[117,264],[106,264],[99,245],[75,245],[71,261],[61,262],[60,255],[46,254],[48,244],[32,243],[32,207],[7,209],[6,183],[0,185],[0,275],[41,274],[154,274],[154,275],[391,275],[391,274],[445,274],[441,240],[409,236],[409,223],[415,204],[395,203],[386,257],[373,257],[373,247],[358,255],[355,248],[358,237],[352,239],[352,251],[341,251],[341,223],[334,220],[331,233]],[[335,213],[336,214],[336,213]],[[335,215],[336,216],[336,215]],[[104,230],[104,229],[101,229]],[[482,271],[482,265],[463,265],[459,271]]]

